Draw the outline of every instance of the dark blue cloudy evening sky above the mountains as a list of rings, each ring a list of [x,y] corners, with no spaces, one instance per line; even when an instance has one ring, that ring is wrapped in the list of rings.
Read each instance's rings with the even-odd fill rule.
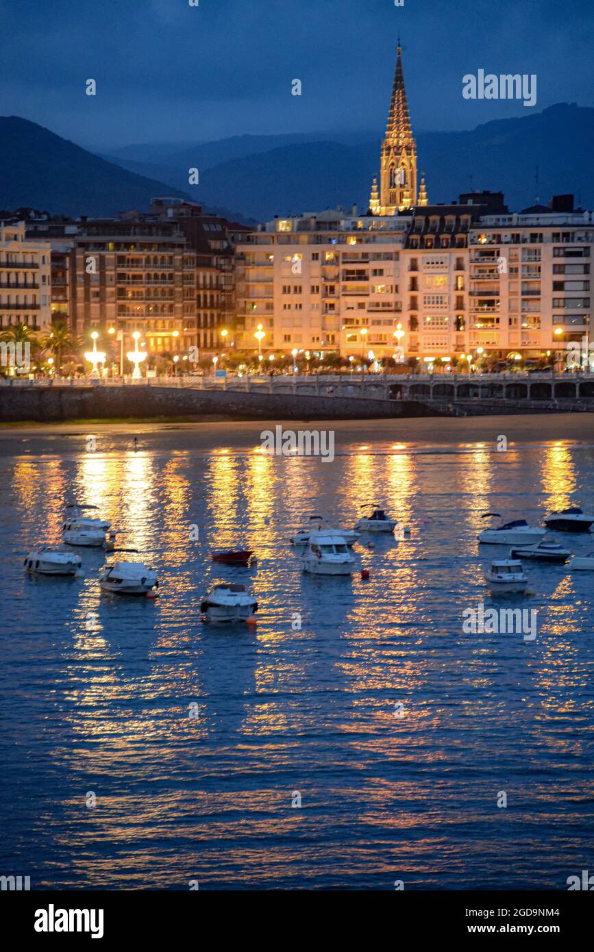
[[[0,112],[106,150],[380,134],[400,30],[413,130],[469,129],[529,111],[465,100],[478,69],[536,73],[535,111],[593,105],[593,24],[594,0],[0,0]]]

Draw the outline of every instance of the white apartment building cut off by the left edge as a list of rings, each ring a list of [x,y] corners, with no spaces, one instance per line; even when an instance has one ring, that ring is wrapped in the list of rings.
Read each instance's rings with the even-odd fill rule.
[[[25,222],[0,223],[0,330],[25,324],[46,330],[51,323],[50,248],[29,241]]]

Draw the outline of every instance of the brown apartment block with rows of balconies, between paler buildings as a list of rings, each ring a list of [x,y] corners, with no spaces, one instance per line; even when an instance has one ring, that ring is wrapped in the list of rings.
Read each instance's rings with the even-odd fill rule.
[[[85,340],[109,340],[113,362],[139,332],[148,354],[214,353],[233,323],[233,248],[226,219],[179,199],[114,219],[32,216],[31,239],[51,249],[51,315]],[[227,334],[222,334],[228,328]],[[116,353],[116,350],[118,351]]]

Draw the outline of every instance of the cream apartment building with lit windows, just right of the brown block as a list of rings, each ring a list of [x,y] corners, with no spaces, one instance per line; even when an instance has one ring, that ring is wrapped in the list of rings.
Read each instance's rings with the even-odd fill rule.
[[[407,222],[338,208],[274,219],[238,238],[237,347],[393,349]]]

